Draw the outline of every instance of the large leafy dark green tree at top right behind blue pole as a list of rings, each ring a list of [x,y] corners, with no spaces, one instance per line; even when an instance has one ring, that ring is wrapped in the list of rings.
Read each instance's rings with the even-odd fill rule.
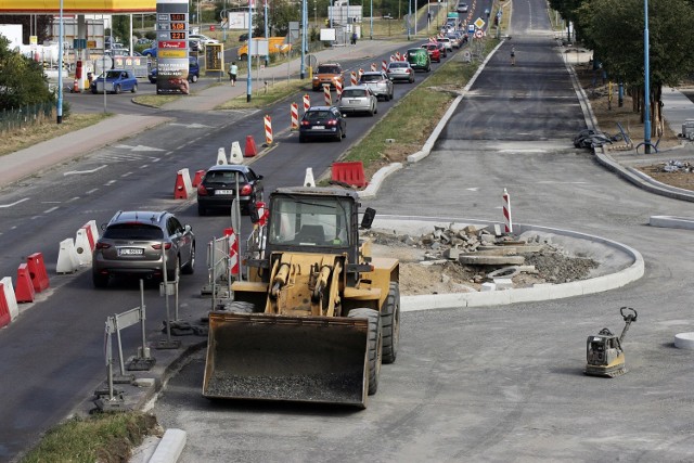
[[[638,108],[643,110],[644,11],[643,0],[591,0],[578,10],[586,44],[605,70],[631,86]],[[650,102],[655,134],[663,132],[663,86],[677,86],[694,72],[694,8],[687,0],[648,0]],[[645,115],[642,112],[642,118]]]

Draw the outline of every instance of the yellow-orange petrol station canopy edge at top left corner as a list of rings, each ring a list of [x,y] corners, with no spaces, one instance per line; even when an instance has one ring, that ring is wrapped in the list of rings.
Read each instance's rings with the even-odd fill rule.
[[[0,0],[0,14],[59,14],[60,10],[60,0]],[[156,13],[156,0],[63,0],[63,13]]]

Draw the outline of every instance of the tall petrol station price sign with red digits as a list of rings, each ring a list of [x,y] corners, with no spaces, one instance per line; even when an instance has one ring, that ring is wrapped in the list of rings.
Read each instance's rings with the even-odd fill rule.
[[[188,0],[157,0],[157,94],[189,93],[188,30]]]

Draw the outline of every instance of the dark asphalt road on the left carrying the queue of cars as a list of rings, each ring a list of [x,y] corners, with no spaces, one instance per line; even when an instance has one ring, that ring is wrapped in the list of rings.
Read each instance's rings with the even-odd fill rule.
[[[347,70],[368,67],[373,60],[344,61]],[[149,83],[144,83],[146,86]],[[288,130],[288,101],[264,111],[204,112],[157,111],[170,117],[168,124],[95,150],[79,159],[37,172],[12,188],[0,191],[0,272],[16,275],[26,256],[41,252],[51,278],[51,287],[37,295],[33,304],[22,304],[21,316],[0,333],[0,461],[30,447],[52,425],[73,413],[92,396],[106,378],[104,365],[104,323],[106,317],[140,305],[137,281],[119,280],[105,291],[97,291],[91,273],[55,275],[59,243],[74,237],[89,220],[105,223],[117,210],[171,210],[196,233],[196,273],[181,280],[180,312],[184,320],[197,320],[210,308],[201,298],[207,282],[205,246],[229,227],[224,215],[197,217],[194,200],[174,200],[176,172],[206,169],[217,159],[220,146],[229,153],[233,141],[244,146],[252,134],[257,144],[265,140],[262,117],[270,114],[275,147],[258,157],[253,168],[266,176],[267,191],[279,185],[304,182],[306,168],[318,177],[355,143],[367,129],[397,103],[410,85],[397,85],[396,98],[380,102],[375,117],[349,117],[347,138],[340,143],[299,144]],[[313,98],[322,93],[312,93]],[[123,98],[121,98],[123,97]],[[73,94],[99,111],[103,95]],[[146,111],[128,102],[129,95],[107,95],[108,111]],[[118,106],[116,108],[117,101]],[[81,110],[80,110],[81,112]],[[284,121],[282,127],[280,121]],[[243,227],[248,230],[249,223]],[[243,232],[243,229],[242,229]],[[165,300],[156,285],[147,285],[147,332],[160,331]],[[172,303],[171,303],[172,304]],[[125,346],[139,345],[138,330],[124,331]],[[18,387],[17,385],[21,385]]]

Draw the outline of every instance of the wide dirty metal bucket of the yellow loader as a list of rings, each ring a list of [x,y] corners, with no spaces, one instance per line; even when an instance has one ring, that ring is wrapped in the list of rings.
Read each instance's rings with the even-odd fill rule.
[[[367,319],[209,313],[203,396],[367,407]]]

